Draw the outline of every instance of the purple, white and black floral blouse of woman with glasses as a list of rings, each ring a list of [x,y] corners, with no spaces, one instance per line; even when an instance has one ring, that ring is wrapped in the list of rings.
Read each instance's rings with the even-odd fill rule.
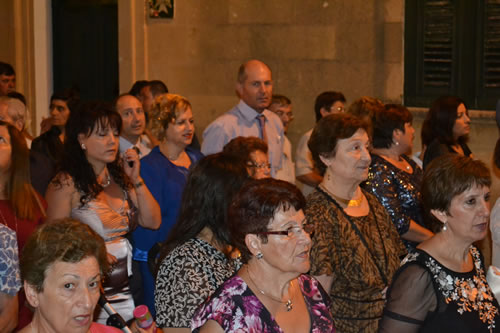
[[[301,275],[300,289],[311,318],[311,333],[335,332],[330,315],[330,301],[317,280]],[[198,332],[208,320],[216,321],[226,333],[282,333],[269,311],[238,275],[233,276],[205,302],[191,322]]]

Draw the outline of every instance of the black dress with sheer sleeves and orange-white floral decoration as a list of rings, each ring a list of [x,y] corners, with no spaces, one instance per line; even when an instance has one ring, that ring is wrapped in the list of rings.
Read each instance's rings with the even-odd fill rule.
[[[500,332],[499,306],[486,281],[482,255],[474,268],[449,270],[417,249],[403,261],[387,295],[379,332]]]

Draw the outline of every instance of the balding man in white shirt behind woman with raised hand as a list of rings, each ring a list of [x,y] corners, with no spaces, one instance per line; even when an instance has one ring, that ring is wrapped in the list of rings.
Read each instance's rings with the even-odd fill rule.
[[[122,117],[120,133],[120,153],[137,147],[139,157],[144,157],[153,148],[151,141],[143,135],[146,128],[146,117],[141,102],[129,94],[120,95],[115,102],[115,109]]]

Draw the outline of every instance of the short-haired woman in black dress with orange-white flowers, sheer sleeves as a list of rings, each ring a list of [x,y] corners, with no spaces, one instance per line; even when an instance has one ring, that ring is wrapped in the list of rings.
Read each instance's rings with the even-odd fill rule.
[[[429,164],[422,197],[436,233],[409,254],[388,291],[380,332],[497,332],[499,305],[479,250],[491,177],[483,162],[446,154]]]

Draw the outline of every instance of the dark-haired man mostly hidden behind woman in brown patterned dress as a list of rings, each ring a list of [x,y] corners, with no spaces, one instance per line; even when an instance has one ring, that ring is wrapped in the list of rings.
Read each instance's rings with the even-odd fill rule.
[[[314,103],[314,112],[316,114],[316,122],[321,118],[334,113],[345,111],[345,97],[341,92],[325,91],[316,97]],[[299,141],[295,154],[295,174],[301,185],[302,193],[307,196],[314,188],[321,183],[323,176],[314,167],[311,151],[307,146],[307,142],[311,137],[313,128],[307,131]]]

